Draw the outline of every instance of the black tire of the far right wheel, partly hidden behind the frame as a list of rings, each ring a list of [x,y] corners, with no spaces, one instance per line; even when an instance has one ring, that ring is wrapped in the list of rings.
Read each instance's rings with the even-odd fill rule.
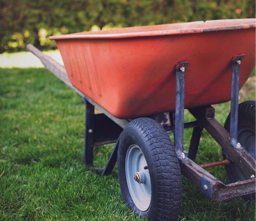
[[[228,117],[226,119],[226,122],[224,124],[224,128],[226,130],[230,131],[230,114],[228,114]],[[238,133],[240,130],[243,128],[246,128],[255,134],[255,101],[244,101],[238,105]],[[238,142],[241,143],[242,146],[244,146],[243,142],[239,139],[238,137]],[[255,148],[255,147],[254,147]],[[255,152],[255,149],[254,149]],[[225,155],[224,159],[226,158]],[[255,155],[254,155],[255,158]],[[239,180],[249,180],[250,177],[242,177],[239,175],[237,172],[238,167],[234,162],[230,164],[225,165],[226,173],[228,175],[228,178],[230,182],[234,183]],[[250,194],[250,195],[244,195],[242,196],[244,200],[255,200],[255,194]]]

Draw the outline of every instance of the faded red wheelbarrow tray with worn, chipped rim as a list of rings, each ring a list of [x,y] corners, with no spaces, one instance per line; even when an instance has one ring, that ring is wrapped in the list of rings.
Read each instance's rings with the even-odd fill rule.
[[[185,108],[231,99],[255,67],[255,19],[211,20],[51,36],[72,85],[117,118],[175,110],[175,65],[188,61]]]

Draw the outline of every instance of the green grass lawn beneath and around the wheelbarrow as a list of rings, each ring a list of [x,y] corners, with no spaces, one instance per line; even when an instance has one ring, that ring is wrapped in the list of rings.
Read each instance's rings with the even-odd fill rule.
[[[240,94],[248,99],[255,99],[255,77]],[[215,107],[223,124],[229,103]],[[79,96],[46,69],[0,69],[0,220],[139,220],[123,203],[116,167],[100,176],[84,166],[84,111]],[[185,120],[192,120],[187,112]],[[188,129],[185,149],[190,136]],[[111,148],[94,149],[94,166],[104,166]],[[221,159],[204,130],[196,162]],[[208,171],[228,182],[223,166]],[[255,220],[255,202],[215,203],[183,177],[179,219]]]

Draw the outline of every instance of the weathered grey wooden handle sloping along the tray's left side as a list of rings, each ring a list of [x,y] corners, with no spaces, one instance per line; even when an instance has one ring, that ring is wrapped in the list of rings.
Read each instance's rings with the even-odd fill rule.
[[[67,86],[69,86],[71,89],[73,89],[76,93],[78,93],[81,97],[86,99],[89,103],[91,103],[93,106],[97,107],[100,111],[102,111],[106,116],[108,116],[111,120],[113,120],[116,124],[121,126],[121,128],[125,128],[125,126],[129,123],[129,120],[127,119],[119,119],[107,112],[105,109],[97,105],[93,100],[91,100],[89,97],[87,97],[85,94],[83,94],[81,91],[77,90],[73,85],[71,85],[67,72],[64,66],[60,65],[57,61],[49,57],[48,55],[44,55],[40,50],[38,50],[34,45],[28,44],[26,46],[26,49],[30,52],[32,52],[36,57],[40,59],[40,61],[43,63],[44,67],[48,69],[50,72],[52,72],[56,77],[58,77],[61,81],[63,81]]]

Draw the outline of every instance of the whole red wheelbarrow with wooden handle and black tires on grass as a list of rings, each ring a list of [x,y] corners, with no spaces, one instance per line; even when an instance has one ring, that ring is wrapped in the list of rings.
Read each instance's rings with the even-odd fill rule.
[[[85,164],[93,168],[93,146],[115,142],[97,169],[108,175],[117,162],[123,200],[137,216],[176,220],[181,174],[214,201],[255,199],[255,101],[238,105],[255,67],[255,26],[255,19],[212,20],[52,36],[65,67],[27,49],[85,102]],[[230,100],[223,127],[210,105]],[[184,109],[196,121],[184,123]],[[187,155],[184,128],[193,128]],[[223,160],[193,161],[203,128]],[[230,184],[204,170],[223,164]]]

